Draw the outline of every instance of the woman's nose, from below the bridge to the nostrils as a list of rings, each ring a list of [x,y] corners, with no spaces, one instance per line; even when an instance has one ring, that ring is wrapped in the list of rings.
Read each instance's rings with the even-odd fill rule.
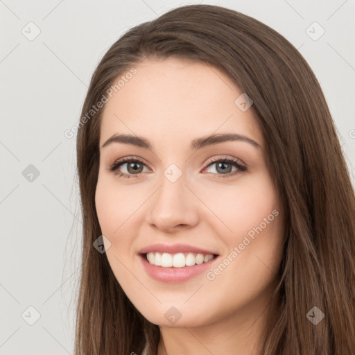
[[[198,199],[186,186],[184,174],[175,182],[164,175],[161,185],[149,199],[146,221],[166,233],[189,229],[198,223]]]

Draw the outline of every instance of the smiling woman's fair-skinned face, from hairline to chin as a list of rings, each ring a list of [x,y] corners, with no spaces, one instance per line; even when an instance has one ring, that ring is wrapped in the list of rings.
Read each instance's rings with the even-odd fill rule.
[[[284,220],[250,101],[202,63],[135,69],[101,123],[96,211],[112,271],[161,326],[257,318],[277,281]]]

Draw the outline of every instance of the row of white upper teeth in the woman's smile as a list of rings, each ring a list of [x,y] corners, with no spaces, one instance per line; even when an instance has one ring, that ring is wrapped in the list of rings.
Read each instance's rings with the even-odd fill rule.
[[[148,252],[146,259],[149,263],[163,268],[183,268],[184,266],[193,266],[195,264],[207,263],[214,258],[213,254],[194,254],[192,252],[177,254],[168,254],[167,252]]]

